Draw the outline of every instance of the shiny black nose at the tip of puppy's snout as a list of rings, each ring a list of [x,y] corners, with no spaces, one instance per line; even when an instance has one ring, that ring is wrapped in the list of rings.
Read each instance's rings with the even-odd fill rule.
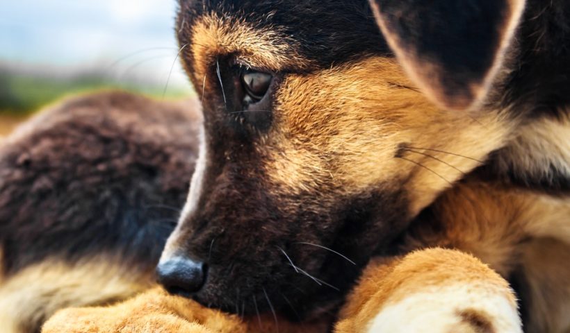
[[[186,257],[174,257],[156,267],[158,283],[169,293],[190,297],[199,291],[206,280],[206,264]]]

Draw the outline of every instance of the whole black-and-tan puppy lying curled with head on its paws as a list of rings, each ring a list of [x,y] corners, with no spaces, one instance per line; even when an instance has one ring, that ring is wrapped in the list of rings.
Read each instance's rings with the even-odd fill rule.
[[[291,321],[337,332],[567,332],[569,22],[564,0],[180,0],[180,58],[202,117],[147,118],[191,111],[97,96],[59,110],[121,110],[107,119],[124,111],[132,126],[101,135],[109,120],[74,135],[69,128],[85,122],[78,114],[8,140],[0,288],[60,266],[54,259],[70,274],[112,264],[102,272],[127,272],[117,274],[122,286],[146,286],[164,245],[157,275],[172,296],[149,291],[116,308],[65,310],[45,330],[247,331],[259,313],[279,332]],[[54,137],[75,144],[50,146]],[[117,157],[85,145],[92,137],[135,149]],[[93,151],[139,162],[103,168],[125,182],[97,178],[100,191],[83,197],[92,162],[74,167],[71,157]],[[172,158],[157,159],[163,151]],[[59,166],[55,176],[29,169],[44,165],[33,160],[40,152]],[[184,208],[166,216],[178,217],[175,228],[143,214],[143,194],[181,207],[190,173]],[[49,191],[60,179],[79,193]],[[62,197],[70,201],[60,205]],[[10,316],[17,330],[22,318],[38,324],[59,307],[113,302],[90,298],[84,286],[95,282],[75,285],[79,296],[65,304],[27,298],[35,307]],[[26,286],[10,287],[9,299],[38,288]],[[142,289],[117,287],[115,300]]]

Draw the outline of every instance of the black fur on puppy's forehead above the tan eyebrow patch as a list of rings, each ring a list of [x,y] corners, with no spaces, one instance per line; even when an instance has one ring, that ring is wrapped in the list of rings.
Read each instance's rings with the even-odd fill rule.
[[[186,26],[192,26],[195,19],[206,13],[215,12],[220,17],[243,19],[257,28],[279,29],[298,45],[301,56],[314,62],[314,70],[360,56],[391,54],[366,1],[182,0],[180,3],[179,24],[184,19]],[[179,42],[190,42],[190,33],[190,29],[179,30]]]

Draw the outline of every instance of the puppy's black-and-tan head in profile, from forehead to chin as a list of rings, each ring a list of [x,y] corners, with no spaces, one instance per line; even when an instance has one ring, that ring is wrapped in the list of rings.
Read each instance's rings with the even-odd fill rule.
[[[395,19],[413,2],[374,6],[376,21],[367,1],[181,1],[180,54],[204,133],[161,260],[167,287],[228,311],[328,311],[372,255],[503,144],[504,114],[457,110],[480,105],[518,9],[496,1],[504,10],[489,24],[503,30],[461,67],[406,35],[432,26]]]

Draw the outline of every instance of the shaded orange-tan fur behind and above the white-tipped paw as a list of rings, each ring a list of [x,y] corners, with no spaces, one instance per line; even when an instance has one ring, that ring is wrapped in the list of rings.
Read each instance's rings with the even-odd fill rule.
[[[434,213],[443,230],[418,225],[410,232],[409,249],[458,248],[503,276],[518,264],[524,239],[553,237],[569,242],[570,202],[536,192],[473,180],[446,191],[434,203]]]

